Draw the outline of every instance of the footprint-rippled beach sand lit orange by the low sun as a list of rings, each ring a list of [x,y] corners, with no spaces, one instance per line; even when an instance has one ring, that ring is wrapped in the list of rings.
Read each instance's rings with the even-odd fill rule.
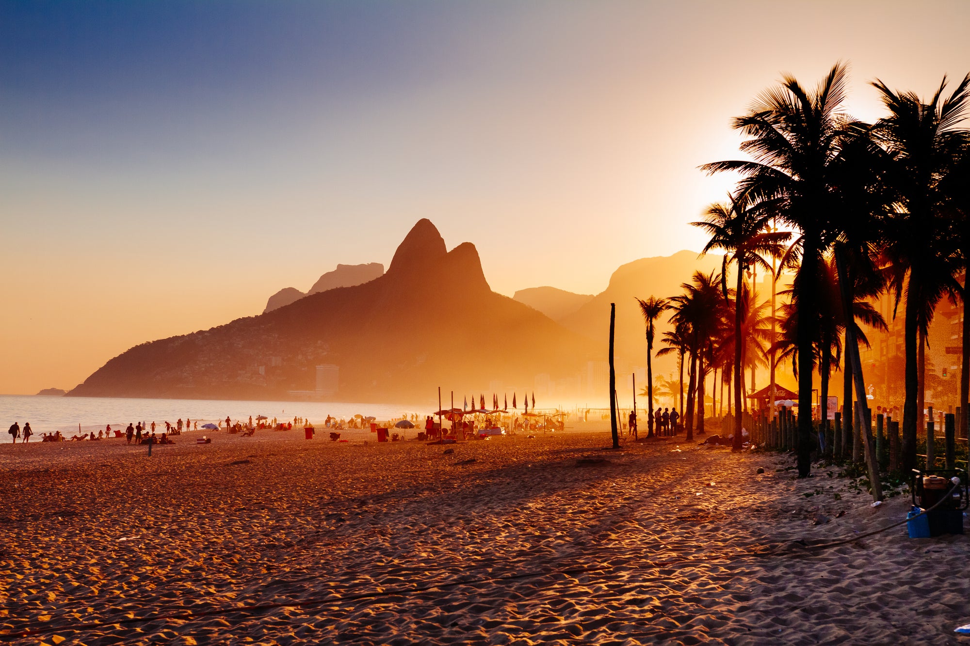
[[[0,640],[970,642],[965,536],[792,545],[889,525],[905,497],[682,438],[602,451],[599,429],[0,446]],[[180,618],[117,623],[159,615]]]

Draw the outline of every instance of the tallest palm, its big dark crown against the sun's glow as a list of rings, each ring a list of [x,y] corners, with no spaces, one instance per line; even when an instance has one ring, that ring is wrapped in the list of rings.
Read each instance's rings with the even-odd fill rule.
[[[848,70],[837,63],[814,91],[791,76],[762,93],[749,113],[736,117],[735,129],[748,139],[741,150],[752,160],[723,161],[701,167],[708,173],[731,171],[743,178],[741,195],[773,202],[778,218],[800,232],[801,264],[794,278],[800,307],[814,310],[819,291],[818,265],[833,237],[837,184],[836,160],[848,118],[842,104]],[[811,471],[812,345],[814,321],[798,326],[798,476]],[[736,400],[735,400],[736,401]]]

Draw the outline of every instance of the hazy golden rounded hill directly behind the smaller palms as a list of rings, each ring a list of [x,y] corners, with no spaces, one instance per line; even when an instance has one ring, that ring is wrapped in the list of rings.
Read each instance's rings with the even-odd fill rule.
[[[641,258],[622,265],[610,276],[605,290],[593,297],[560,322],[566,328],[590,339],[607,339],[609,335],[609,304],[616,303],[616,355],[618,363],[632,366],[647,365],[647,341],[637,298],[653,295],[668,298],[679,294],[681,283],[688,282],[695,271],[708,274],[721,271],[719,255],[697,257],[695,251],[678,251],[672,256]],[[658,321],[657,345],[663,332],[670,330],[667,316]],[[668,372],[676,367],[676,359],[662,358],[655,372]]]

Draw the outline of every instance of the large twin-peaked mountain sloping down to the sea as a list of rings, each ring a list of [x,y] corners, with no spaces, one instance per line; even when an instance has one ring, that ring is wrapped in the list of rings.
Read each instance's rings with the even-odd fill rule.
[[[441,386],[460,402],[494,382],[511,395],[532,392],[537,374],[575,380],[588,360],[604,356],[604,343],[493,292],[474,245],[448,251],[435,225],[422,219],[386,274],[135,346],[69,396],[302,397],[289,391],[313,390],[315,367],[330,364],[339,366],[334,397],[341,401],[429,401]]]

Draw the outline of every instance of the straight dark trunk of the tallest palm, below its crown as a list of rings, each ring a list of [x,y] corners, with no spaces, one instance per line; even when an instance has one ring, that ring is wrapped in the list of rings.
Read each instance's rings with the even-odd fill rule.
[[[818,310],[819,252],[815,246],[818,237],[806,231],[802,238],[801,268],[795,276],[795,292],[798,310]],[[812,346],[815,335],[813,316],[798,317],[798,477],[807,478],[812,471]]]

